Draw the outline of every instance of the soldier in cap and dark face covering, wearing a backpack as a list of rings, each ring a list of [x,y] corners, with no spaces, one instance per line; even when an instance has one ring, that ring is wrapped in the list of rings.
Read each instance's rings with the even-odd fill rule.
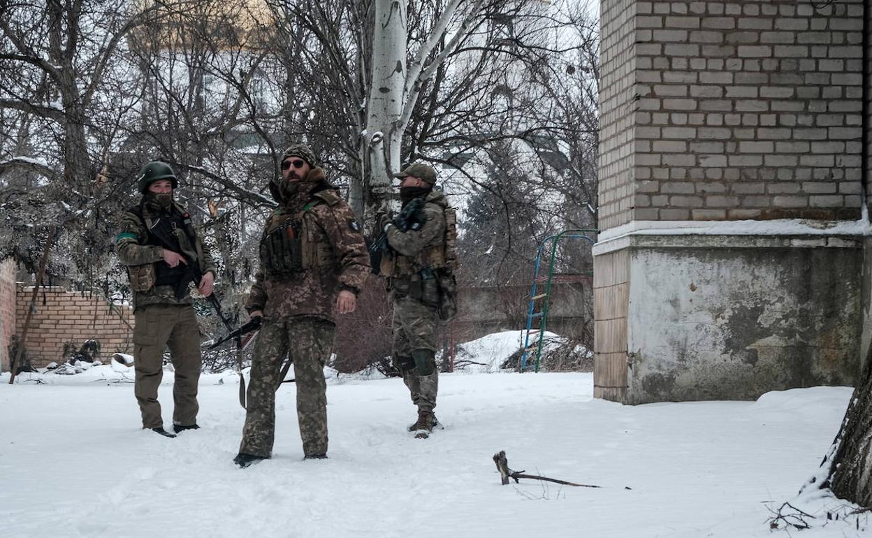
[[[455,291],[453,249],[453,209],[445,196],[434,188],[436,173],[432,167],[415,163],[397,174],[399,197],[406,208],[420,205],[418,215],[410,215],[414,223],[400,229],[387,215],[382,215],[378,227],[385,231],[387,243],[395,255],[383,258],[381,273],[388,277],[388,289],[393,302],[393,365],[403,376],[418,406],[418,420],[408,427],[418,439],[426,439],[439,426],[433,408],[439,386],[436,368],[436,328],[439,319],[450,319],[446,300],[453,300]],[[406,222],[408,224],[408,222]],[[451,288],[451,289],[449,289]],[[453,304],[453,303],[452,303]]]

